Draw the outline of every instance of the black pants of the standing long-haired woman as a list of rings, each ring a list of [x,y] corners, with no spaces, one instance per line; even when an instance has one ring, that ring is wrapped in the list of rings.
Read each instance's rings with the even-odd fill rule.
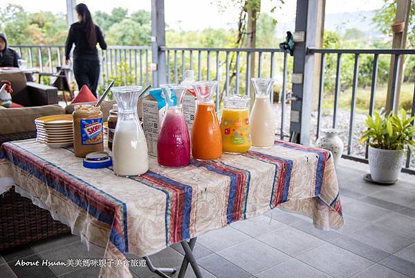
[[[99,60],[74,59],[73,74],[79,89],[86,85],[92,94],[97,96],[98,79],[100,78]]]

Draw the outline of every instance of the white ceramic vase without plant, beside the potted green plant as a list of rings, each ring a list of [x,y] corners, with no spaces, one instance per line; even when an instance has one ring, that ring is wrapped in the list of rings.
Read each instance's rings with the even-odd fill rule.
[[[326,128],[322,130],[322,136],[315,141],[317,147],[331,151],[335,166],[338,164],[340,157],[342,157],[344,150],[344,143],[338,136],[339,133],[334,128]]]

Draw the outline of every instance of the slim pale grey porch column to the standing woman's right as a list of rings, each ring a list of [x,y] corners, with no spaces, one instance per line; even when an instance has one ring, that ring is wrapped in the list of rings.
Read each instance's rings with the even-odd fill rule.
[[[151,69],[154,87],[166,82],[165,51],[160,49],[165,45],[164,0],[151,0]]]

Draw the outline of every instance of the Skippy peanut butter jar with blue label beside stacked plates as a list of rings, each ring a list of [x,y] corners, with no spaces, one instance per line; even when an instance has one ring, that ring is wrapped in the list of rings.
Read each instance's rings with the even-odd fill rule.
[[[73,150],[75,156],[104,150],[101,107],[75,105],[73,112]]]

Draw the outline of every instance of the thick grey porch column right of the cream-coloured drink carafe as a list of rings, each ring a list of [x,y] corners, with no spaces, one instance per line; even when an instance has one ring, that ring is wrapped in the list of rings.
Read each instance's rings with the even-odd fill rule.
[[[291,103],[291,141],[310,144],[311,110],[315,79],[315,58],[307,53],[320,37],[324,0],[297,0],[295,32],[304,32],[304,40],[295,43],[293,82],[294,100]]]

